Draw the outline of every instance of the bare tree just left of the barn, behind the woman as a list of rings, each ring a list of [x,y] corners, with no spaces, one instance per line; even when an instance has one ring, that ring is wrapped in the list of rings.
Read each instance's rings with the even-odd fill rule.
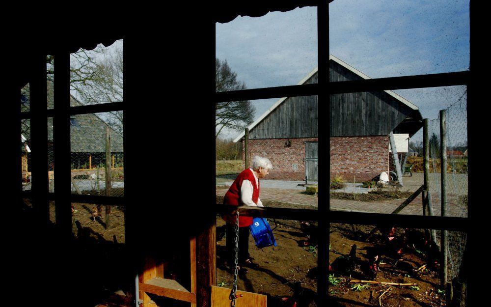
[[[233,72],[227,61],[215,60],[216,91],[246,89],[246,84],[237,80],[237,73]],[[254,119],[256,109],[249,100],[219,102],[215,107],[215,138],[223,128],[241,131]]]

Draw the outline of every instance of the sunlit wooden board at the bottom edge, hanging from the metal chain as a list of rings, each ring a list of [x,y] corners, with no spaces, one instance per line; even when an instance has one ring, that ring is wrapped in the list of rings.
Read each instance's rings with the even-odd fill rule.
[[[212,286],[212,307],[230,307],[229,288]],[[237,290],[239,297],[235,300],[236,307],[267,307],[268,297],[266,295]]]

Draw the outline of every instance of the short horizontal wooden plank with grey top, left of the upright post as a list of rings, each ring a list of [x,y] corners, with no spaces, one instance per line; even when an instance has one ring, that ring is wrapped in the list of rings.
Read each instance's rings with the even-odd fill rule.
[[[173,279],[154,278],[145,283],[140,282],[138,287],[142,292],[196,304],[196,294],[192,294]]]

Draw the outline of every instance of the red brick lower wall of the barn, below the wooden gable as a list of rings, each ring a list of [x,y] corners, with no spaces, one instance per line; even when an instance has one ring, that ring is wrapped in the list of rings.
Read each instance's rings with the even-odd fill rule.
[[[249,159],[258,155],[270,159],[273,164],[266,179],[305,180],[304,142],[318,139],[290,139],[291,146],[286,145],[287,140],[249,140]],[[360,182],[388,171],[388,146],[387,136],[330,138],[330,177],[340,174],[352,181],[355,176],[355,181]]]

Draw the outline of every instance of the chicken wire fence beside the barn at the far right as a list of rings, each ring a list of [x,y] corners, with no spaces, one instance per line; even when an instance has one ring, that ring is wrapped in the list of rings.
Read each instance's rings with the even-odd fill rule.
[[[459,100],[445,109],[446,122],[446,215],[467,217],[468,168],[467,168],[467,101],[466,91]],[[430,173],[429,193],[435,214],[441,208],[441,159],[440,115],[428,121]],[[441,231],[437,231],[440,241]],[[447,282],[459,274],[466,244],[466,233],[448,231]],[[437,242],[439,244],[439,242]]]

